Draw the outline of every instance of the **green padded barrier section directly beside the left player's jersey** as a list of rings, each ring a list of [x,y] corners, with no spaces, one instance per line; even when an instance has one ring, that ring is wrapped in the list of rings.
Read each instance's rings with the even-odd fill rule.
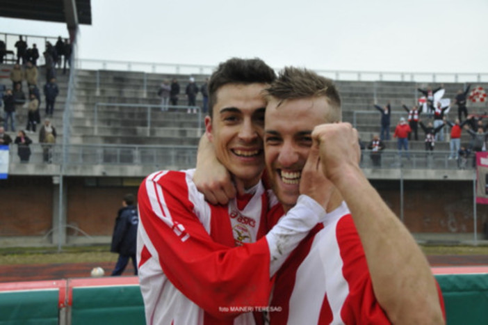
[[[138,285],[74,287],[72,325],[145,324]]]

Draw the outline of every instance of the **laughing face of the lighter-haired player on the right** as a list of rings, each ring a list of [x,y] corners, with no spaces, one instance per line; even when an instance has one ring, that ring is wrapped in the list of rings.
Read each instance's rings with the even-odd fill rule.
[[[300,195],[300,175],[309,156],[311,132],[316,125],[331,122],[325,97],[279,100],[271,97],[266,106],[264,148],[271,186],[285,211]]]

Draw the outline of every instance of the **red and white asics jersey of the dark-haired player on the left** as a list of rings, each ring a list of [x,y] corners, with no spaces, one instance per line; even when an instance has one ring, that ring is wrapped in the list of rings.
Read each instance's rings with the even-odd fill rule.
[[[299,198],[263,237],[269,227],[261,183],[245,198],[214,206],[192,177],[193,170],[159,171],[139,189],[138,266],[146,322],[254,324],[252,312],[245,311],[268,306],[270,275],[325,212],[311,198]]]

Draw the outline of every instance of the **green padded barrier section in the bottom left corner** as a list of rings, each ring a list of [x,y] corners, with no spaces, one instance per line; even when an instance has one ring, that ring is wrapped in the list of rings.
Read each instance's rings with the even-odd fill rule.
[[[59,290],[1,292],[0,324],[58,325]]]

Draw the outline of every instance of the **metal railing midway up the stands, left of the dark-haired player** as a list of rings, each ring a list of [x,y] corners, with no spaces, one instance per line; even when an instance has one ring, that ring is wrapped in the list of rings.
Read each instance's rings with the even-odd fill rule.
[[[99,121],[99,113],[101,113],[101,107],[117,107],[121,109],[132,109],[132,112],[134,110],[145,110],[146,111],[146,129],[147,129],[147,136],[151,135],[151,128],[153,127],[153,118],[152,116],[154,113],[152,111],[154,109],[157,109],[158,111],[165,109],[165,111],[188,111],[188,110],[197,110],[197,133],[202,134],[202,118],[203,118],[203,113],[202,109],[199,106],[174,106],[174,105],[168,105],[165,108],[162,105],[154,105],[154,104],[117,104],[117,103],[95,103],[94,109],[93,109],[93,132],[94,135],[99,134],[99,125],[101,125]]]

